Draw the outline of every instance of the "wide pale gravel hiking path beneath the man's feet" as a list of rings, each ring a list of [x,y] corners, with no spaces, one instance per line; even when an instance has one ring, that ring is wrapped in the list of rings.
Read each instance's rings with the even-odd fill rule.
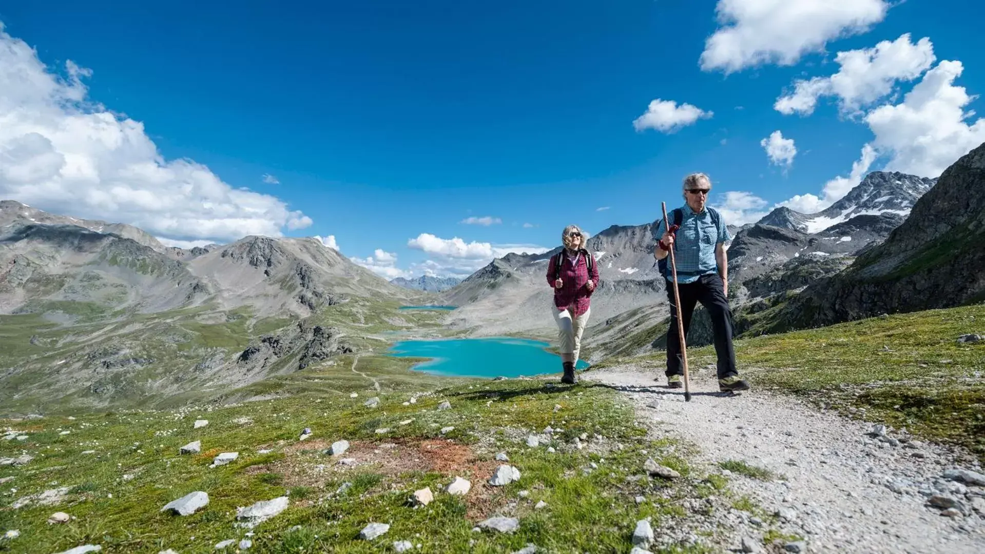
[[[807,552],[985,552],[985,487],[942,476],[955,467],[982,473],[969,456],[892,429],[879,439],[872,423],[755,388],[726,396],[710,367],[690,372],[689,402],[652,364],[581,378],[622,391],[640,420],[695,447],[696,462],[709,470],[744,461],[772,471],[772,480],[724,473],[739,495],[778,515],[781,531],[804,537]],[[942,516],[927,505],[932,495],[952,499],[963,514]],[[735,528],[734,550],[742,551],[745,537],[775,549],[762,544],[766,529],[751,515],[723,517]]]

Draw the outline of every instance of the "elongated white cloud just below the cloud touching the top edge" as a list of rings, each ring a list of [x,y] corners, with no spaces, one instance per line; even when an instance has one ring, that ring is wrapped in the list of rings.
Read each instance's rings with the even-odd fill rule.
[[[873,48],[838,52],[834,61],[841,69],[830,77],[815,77],[794,84],[794,92],[777,98],[773,108],[790,115],[814,112],[821,96],[837,96],[842,113],[856,114],[863,106],[885,97],[897,81],[913,81],[936,60],[934,45],[927,37],[916,44],[910,34],[883,40]]]

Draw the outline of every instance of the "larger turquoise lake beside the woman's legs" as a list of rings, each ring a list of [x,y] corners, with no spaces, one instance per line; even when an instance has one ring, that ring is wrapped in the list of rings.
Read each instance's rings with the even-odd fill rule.
[[[519,377],[560,373],[560,356],[551,344],[529,339],[402,340],[387,353],[397,357],[431,358],[413,369],[447,377]],[[578,360],[577,369],[588,363]]]

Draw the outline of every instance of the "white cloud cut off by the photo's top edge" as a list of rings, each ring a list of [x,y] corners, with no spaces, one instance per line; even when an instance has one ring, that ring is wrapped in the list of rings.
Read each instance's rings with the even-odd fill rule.
[[[720,28],[705,41],[701,69],[793,65],[830,40],[868,31],[888,8],[886,0],[719,0]]]

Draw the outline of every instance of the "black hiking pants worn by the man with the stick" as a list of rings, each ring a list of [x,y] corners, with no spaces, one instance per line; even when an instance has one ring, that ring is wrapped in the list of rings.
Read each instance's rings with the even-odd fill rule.
[[[688,283],[678,283],[681,295],[681,316],[684,318],[684,335],[688,338],[690,316],[700,302],[711,317],[715,333],[715,353],[718,354],[718,378],[739,375],[736,370],[736,351],[732,346],[732,310],[725,297],[722,277],[709,274]],[[678,335],[677,308],[674,307],[674,283],[667,281],[667,298],[671,305],[671,328],[667,332],[666,375],[684,375],[684,358],[681,356],[681,339]]]

